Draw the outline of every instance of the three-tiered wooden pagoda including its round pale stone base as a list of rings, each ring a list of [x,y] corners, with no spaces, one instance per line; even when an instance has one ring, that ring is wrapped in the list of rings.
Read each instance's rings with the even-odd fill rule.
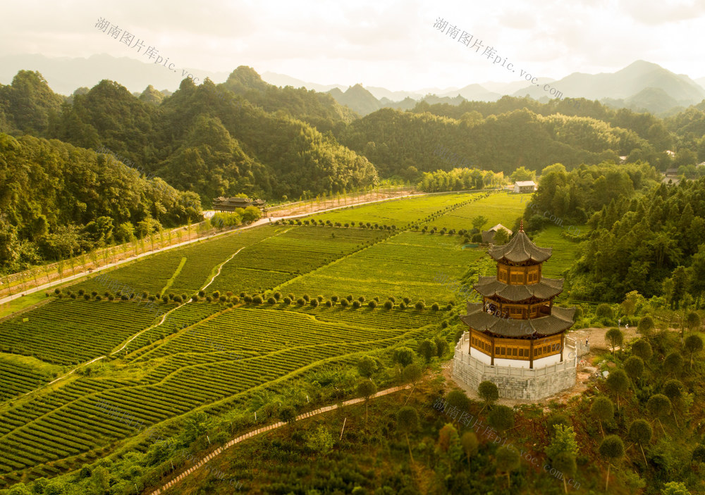
[[[564,349],[575,308],[553,306],[553,299],[563,292],[563,279],[542,276],[542,264],[551,257],[551,248],[531,242],[522,222],[510,242],[490,247],[489,256],[497,262],[497,275],[479,277],[474,285],[482,302],[467,303],[467,315],[460,318],[470,329],[456,347],[454,375],[474,387],[491,380],[501,396],[520,399],[536,399],[558,391],[556,387],[574,384],[577,363],[572,356],[570,363],[564,361]],[[553,370],[546,370],[551,366]],[[505,367],[514,369],[504,373],[501,368]],[[549,380],[549,384],[540,380],[533,384],[534,391],[521,390],[532,389],[527,378],[566,371],[565,379]],[[501,378],[515,372],[520,372],[520,382]]]

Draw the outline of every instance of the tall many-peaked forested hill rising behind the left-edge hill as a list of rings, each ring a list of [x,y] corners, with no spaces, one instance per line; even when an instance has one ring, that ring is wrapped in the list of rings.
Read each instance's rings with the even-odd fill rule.
[[[246,75],[247,70],[240,68],[226,84],[247,80]],[[39,78],[35,84],[34,94],[51,92]],[[243,84],[238,87],[243,89]],[[301,116],[324,120],[323,127],[343,123],[345,111],[330,96],[293,90],[300,96],[297,104],[286,94],[288,89],[266,91],[273,101],[283,99],[300,108]],[[316,104],[319,100],[323,104]],[[267,112],[209,80],[199,86],[183,80],[161,104],[104,80],[85,94],[73,94],[71,104],[63,104],[61,113],[47,118],[47,130],[39,135],[84,148],[106,146],[139,170],[197,192],[204,206],[216,196],[298,197],[377,181],[366,158],[345,149],[332,134],[321,134],[297,120],[286,106]],[[18,131],[8,127],[6,132]]]

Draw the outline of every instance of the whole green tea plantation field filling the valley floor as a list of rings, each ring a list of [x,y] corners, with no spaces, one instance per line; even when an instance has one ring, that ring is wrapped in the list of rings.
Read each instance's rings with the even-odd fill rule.
[[[0,488],[147,449],[143,427],[168,432],[192,411],[255,413],[262,394],[305,373],[439,335],[446,305],[462,302],[439,277],[458,280],[486,251],[405,226],[436,216],[457,230],[479,214],[512,225],[518,201],[462,193],[346,208],[311,219],[355,227],[262,225],[59,287],[0,320]],[[577,244],[558,227],[536,242],[555,249],[547,275],[572,263]]]

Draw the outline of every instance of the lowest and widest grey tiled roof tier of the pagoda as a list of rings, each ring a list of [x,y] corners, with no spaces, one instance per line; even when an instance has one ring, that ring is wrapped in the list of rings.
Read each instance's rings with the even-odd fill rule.
[[[546,337],[557,334],[572,326],[575,313],[575,308],[553,306],[551,315],[530,320],[515,320],[487,313],[483,307],[483,303],[467,303],[467,315],[461,316],[460,320],[474,330],[490,332],[502,337]]]

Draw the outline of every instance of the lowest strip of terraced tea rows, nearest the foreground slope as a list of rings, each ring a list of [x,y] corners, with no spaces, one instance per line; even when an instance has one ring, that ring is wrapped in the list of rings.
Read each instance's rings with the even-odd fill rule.
[[[401,336],[398,336],[398,338]],[[131,436],[136,425],[152,425],[203,404],[235,396],[307,365],[345,353],[375,349],[393,341],[315,344],[283,349],[243,361],[192,365],[155,385],[123,387],[79,399],[18,426],[0,438],[0,473],[18,472],[71,458]],[[100,406],[109,403],[116,413]]]

